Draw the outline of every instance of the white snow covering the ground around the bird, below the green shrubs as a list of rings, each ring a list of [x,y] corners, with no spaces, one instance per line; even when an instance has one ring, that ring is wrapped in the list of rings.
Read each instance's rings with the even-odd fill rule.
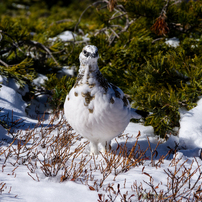
[[[41,75],[34,82],[40,86],[45,79],[46,78]],[[79,155],[74,156],[77,149],[86,143],[86,139],[75,135],[69,151],[72,153],[72,156],[70,160],[67,161],[68,168],[70,169],[71,166],[75,166],[75,169],[78,168],[78,166],[81,165],[80,162],[82,159],[86,159],[88,162],[83,160],[83,162],[86,162],[86,165],[80,177],[73,179],[73,169],[70,169],[71,174],[69,179],[60,182],[64,170],[60,170],[55,177],[46,177],[41,170],[42,165],[39,163],[39,160],[42,160],[44,155],[46,155],[48,147],[42,148],[40,145],[36,146],[32,152],[39,152],[39,160],[35,160],[32,156],[32,160],[26,161],[26,163],[21,162],[23,161],[23,158],[25,158],[25,154],[22,154],[18,163],[16,163],[15,155],[10,155],[7,161],[6,155],[13,149],[16,149],[15,151],[17,151],[19,142],[22,141],[20,135],[26,134],[29,131],[34,131],[35,137],[31,138],[28,143],[28,147],[31,147],[32,141],[40,142],[42,134],[48,133],[46,131],[49,131],[50,126],[55,125],[56,128],[48,134],[49,141],[56,136],[61,135],[61,133],[68,133],[66,132],[67,125],[57,125],[60,119],[55,118],[52,123],[49,123],[50,120],[47,119],[43,121],[43,125],[35,127],[38,121],[28,118],[25,113],[26,103],[22,99],[23,92],[19,91],[19,88],[15,83],[12,83],[11,85],[8,84],[8,82],[3,82],[1,85],[0,108],[3,108],[3,110],[0,112],[0,118],[2,114],[8,113],[10,119],[16,120],[22,118],[24,120],[23,124],[14,129],[12,133],[13,136],[17,135],[19,138],[13,143],[12,135],[7,134],[7,130],[0,125],[1,202],[92,202],[99,200],[98,194],[100,194],[103,201],[104,198],[109,200],[110,194],[114,201],[121,201],[121,198],[123,199],[123,194],[126,194],[127,199],[134,194],[134,196],[131,197],[131,201],[138,201],[138,194],[142,194],[143,199],[147,196],[146,193],[149,191],[152,192],[149,183],[152,183],[153,186],[156,187],[155,189],[158,193],[160,193],[161,190],[166,192],[169,187],[168,183],[171,182],[171,178],[168,177],[169,173],[177,173],[176,175],[180,178],[186,169],[190,169],[190,172],[193,172],[193,176],[190,180],[191,185],[193,185],[199,177],[199,170],[197,168],[198,165],[202,164],[202,160],[199,158],[200,149],[202,147],[202,99],[199,100],[195,108],[181,114],[179,136],[170,135],[167,141],[154,136],[153,128],[151,126],[143,126],[141,123],[129,123],[123,135],[112,140],[112,150],[116,151],[115,155],[109,153],[104,157],[100,154],[92,158],[89,156],[89,144],[85,146],[84,150],[81,151]],[[62,116],[63,115],[61,115],[61,117]],[[130,151],[136,144],[139,131],[140,136],[138,137],[138,144],[135,151],[138,146],[142,151],[146,151],[143,164],[140,163],[139,165],[130,167],[128,170],[122,170],[116,175],[116,172],[120,171],[121,166],[117,169],[113,168],[113,166],[118,166],[118,163],[123,164],[125,162],[124,157],[120,157],[118,154],[120,148],[123,148],[125,145],[127,150]],[[72,134],[74,134],[74,131],[72,131]],[[157,153],[153,153],[154,156],[152,161],[152,152],[155,151],[159,141],[160,144],[157,147]],[[12,145],[9,147],[10,144]],[[166,158],[161,159],[163,155],[168,153],[170,148],[174,151],[177,144],[178,151],[175,154],[174,152],[171,152]],[[23,144],[21,143],[21,145]],[[119,149],[117,149],[118,147]],[[10,150],[8,148],[10,148]],[[3,153],[3,151],[5,152]],[[32,155],[32,152],[30,152],[29,155]],[[49,153],[49,155],[52,155],[52,153]],[[107,159],[110,160],[112,157],[117,159],[117,161],[114,161],[114,164],[111,165],[111,173],[108,173],[108,170],[105,169]],[[46,156],[46,158],[49,157]],[[37,162],[36,167],[34,166],[34,162]],[[28,169],[29,166],[33,166],[33,171]],[[168,174],[166,174],[166,172]],[[186,174],[186,176],[188,175]],[[183,180],[185,181],[185,179]],[[102,182],[103,184],[101,186]],[[2,188],[4,183],[6,184]],[[193,189],[193,192],[196,191],[200,184],[201,180],[199,180],[196,188]],[[120,192],[122,195],[117,194],[118,185],[120,185]],[[186,183],[183,186],[183,189],[188,186],[188,183]],[[135,187],[137,188],[138,193],[134,191]],[[172,193],[170,194],[172,195]],[[191,195],[191,197],[193,197],[193,195]],[[130,200],[128,199],[128,201]],[[184,199],[184,201],[186,200]]]

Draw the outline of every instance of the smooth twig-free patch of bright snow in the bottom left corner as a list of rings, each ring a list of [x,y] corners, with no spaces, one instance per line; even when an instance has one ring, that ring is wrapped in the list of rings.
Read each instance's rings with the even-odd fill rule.
[[[74,182],[68,183],[56,183],[51,182],[49,180],[44,180],[40,182],[30,180],[26,175],[23,174],[23,171],[27,173],[27,170],[22,170],[21,172],[17,173],[17,177],[20,178],[19,180],[10,180],[11,183],[8,183],[7,186],[12,185],[13,193],[19,193],[17,197],[16,195],[5,194],[0,195],[0,201],[20,201],[20,202],[27,202],[27,201],[70,201],[81,202],[83,196],[88,193],[88,187],[82,186],[80,184],[76,184]],[[5,179],[1,179],[5,181]],[[23,189],[23,190],[22,190]],[[78,191],[79,190],[79,191]],[[87,196],[89,201],[93,201],[97,196],[97,194],[92,192]],[[71,200],[73,198],[74,200]]]

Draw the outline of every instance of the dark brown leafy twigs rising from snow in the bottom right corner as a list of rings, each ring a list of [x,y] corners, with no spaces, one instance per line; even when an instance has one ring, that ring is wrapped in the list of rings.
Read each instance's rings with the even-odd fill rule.
[[[167,191],[161,189],[162,182],[154,185],[154,179],[151,175],[144,172],[144,167],[142,169],[142,174],[149,177],[148,181],[143,182],[147,184],[151,189],[145,189],[143,184],[138,185],[137,181],[133,183],[130,191],[125,191],[124,194],[121,193],[120,184],[118,184],[117,189],[115,190],[113,184],[109,184],[105,189],[107,194],[98,194],[99,202],[109,202],[115,201],[119,196],[120,201],[123,202],[132,202],[134,199],[138,201],[151,201],[151,202],[161,202],[161,201],[201,201],[202,200],[202,172],[200,165],[198,164],[197,159],[195,158],[190,167],[185,167],[184,161],[182,164],[179,164],[181,159],[176,159],[175,157],[171,161],[171,168],[174,167],[174,170],[171,171],[169,168],[164,170],[167,174]],[[196,163],[198,167],[194,170],[193,164]],[[196,181],[192,181],[194,175],[198,175]],[[124,187],[125,188],[125,187]],[[123,188],[123,190],[124,190]]]

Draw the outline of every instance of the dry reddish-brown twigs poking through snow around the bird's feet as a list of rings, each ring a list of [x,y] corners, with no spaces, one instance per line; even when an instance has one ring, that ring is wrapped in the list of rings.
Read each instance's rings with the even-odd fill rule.
[[[164,161],[171,154],[171,150],[165,156],[158,160],[153,160],[158,154],[156,149],[152,150],[148,139],[148,151],[151,157],[146,156],[147,150],[141,150],[138,145],[138,138],[132,148],[127,148],[127,140],[121,145],[117,142],[117,148],[107,153],[100,153],[98,156],[89,156],[86,151],[88,141],[84,141],[79,135],[76,135],[72,128],[63,118],[54,124],[56,117],[52,117],[49,124],[45,125],[42,121],[34,128],[28,128],[26,131],[19,130],[13,133],[14,140],[5,146],[0,147],[0,158],[2,163],[1,172],[4,172],[7,165],[12,165],[13,170],[10,175],[16,177],[16,170],[21,166],[27,167],[27,174],[34,180],[39,181],[43,174],[46,177],[56,177],[58,182],[68,180],[75,183],[81,183],[89,187],[92,191],[98,192],[98,201],[115,201],[120,198],[121,201],[199,201],[202,199],[202,171],[195,158],[189,167],[182,163],[182,158],[174,158],[170,161],[169,168],[164,169],[167,174],[167,191],[162,190],[162,182],[154,184],[153,177],[145,172],[145,168],[162,167]],[[16,122],[16,124],[18,124]],[[78,144],[80,142],[80,144]],[[193,168],[193,165],[197,164]],[[113,176],[113,181],[119,174],[127,173],[134,167],[142,166],[142,175],[147,176],[148,180],[144,183],[134,183],[131,190],[120,187],[120,184],[110,183],[106,185],[105,180]],[[40,171],[41,170],[41,171]],[[95,176],[99,173],[100,179]],[[198,175],[197,180],[192,180],[194,175]],[[196,179],[196,178],[195,178]],[[117,187],[116,187],[117,186]],[[147,186],[147,188],[144,188]],[[148,189],[148,186],[150,187]],[[0,184],[0,194],[10,193],[6,183]]]

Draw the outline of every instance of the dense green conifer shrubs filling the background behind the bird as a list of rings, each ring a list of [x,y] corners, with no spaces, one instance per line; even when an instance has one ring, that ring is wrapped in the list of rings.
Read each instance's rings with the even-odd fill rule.
[[[0,61],[0,73],[22,85],[31,85],[38,73],[48,75],[45,89],[54,109],[62,108],[75,81],[58,79],[57,72],[64,65],[78,70],[86,44],[80,32],[98,47],[103,75],[129,95],[133,107],[151,112],[145,124],[156,134],[164,137],[179,127],[180,108],[196,106],[202,94],[201,0],[3,2],[0,60],[6,65]],[[66,30],[77,32],[75,42],[49,40]],[[179,46],[166,44],[172,37]]]

